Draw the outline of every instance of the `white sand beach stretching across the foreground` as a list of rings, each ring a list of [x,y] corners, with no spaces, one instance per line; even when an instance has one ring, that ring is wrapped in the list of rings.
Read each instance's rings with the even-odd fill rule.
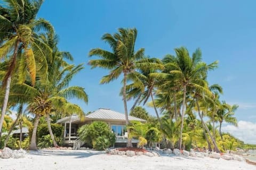
[[[147,157],[147,156],[118,156],[107,155],[90,150],[41,150],[30,152],[26,158],[0,159],[0,170],[41,170],[41,169],[230,169],[256,170],[256,166],[213,158],[193,157]]]

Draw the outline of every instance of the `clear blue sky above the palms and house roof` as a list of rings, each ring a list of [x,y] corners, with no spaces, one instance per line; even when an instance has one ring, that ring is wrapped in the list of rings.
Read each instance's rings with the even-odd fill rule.
[[[256,123],[255,6],[255,1],[46,0],[38,16],[53,24],[60,49],[73,54],[75,64],[85,63],[71,82],[89,95],[88,105],[78,102],[84,112],[100,107],[124,112],[121,79],[100,85],[108,71],[91,70],[88,53],[95,47],[109,49],[100,39],[103,33],[135,27],[135,46],[145,48],[146,55],[163,58],[176,47],[185,46],[190,53],[200,47],[205,62],[218,60],[218,69],[209,73],[210,84],[220,84],[221,98],[239,105],[238,121]]]

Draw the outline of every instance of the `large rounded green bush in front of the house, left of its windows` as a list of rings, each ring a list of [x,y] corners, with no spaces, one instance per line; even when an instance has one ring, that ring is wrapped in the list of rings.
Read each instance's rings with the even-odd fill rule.
[[[105,150],[116,141],[115,134],[111,132],[108,124],[101,121],[85,124],[77,132],[82,141],[97,150]]]

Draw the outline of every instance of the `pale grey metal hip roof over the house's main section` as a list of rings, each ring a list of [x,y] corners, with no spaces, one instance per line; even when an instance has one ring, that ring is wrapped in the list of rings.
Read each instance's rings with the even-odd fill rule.
[[[85,116],[85,118],[89,119],[106,119],[106,120],[122,120],[125,121],[125,115],[116,111],[111,111],[108,108],[99,108],[97,111]],[[142,118],[128,116],[129,121],[141,121],[146,122]]]

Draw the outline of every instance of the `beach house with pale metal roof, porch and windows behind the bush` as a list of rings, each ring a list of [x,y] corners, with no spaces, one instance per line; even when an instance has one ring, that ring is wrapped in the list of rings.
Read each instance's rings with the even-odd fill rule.
[[[129,121],[140,121],[145,123],[138,117],[129,116]],[[109,125],[109,128],[116,134],[115,147],[125,147],[127,145],[127,131],[125,127],[125,115],[107,108],[99,108],[97,111],[86,115],[81,119],[76,115],[63,117],[57,123],[64,126],[64,144],[73,146],[74,149],[79,149],[84,143],[79,139],[77,130],[84,124],[90,124],[93,121],[103,121]],[[138,140],[132,139],[134,146],[137,145]]]

